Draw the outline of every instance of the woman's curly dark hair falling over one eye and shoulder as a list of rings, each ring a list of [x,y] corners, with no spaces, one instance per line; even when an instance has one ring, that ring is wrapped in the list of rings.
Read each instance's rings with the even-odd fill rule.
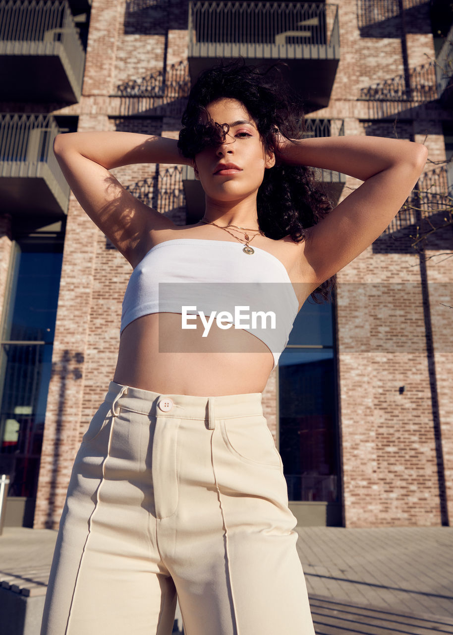
[[[279,65],[262,69],[239,58],[204,70],[192,86],[178,141],[183,156],[194,159],[204,148],[225,141],[228,124],[215,123],[206,111],[211,102],[225,97],[244,104],[266,150],[275,152],[279,131],[288,140],[303,137],[303,107],[282,81]],[[258,189],[258,225],[268,238],[279,240],[290,234],[299,243],[305,240],[305,228],[324,218],[332,204],[312,168],[279,163],[278,154],[276,159]],[[313,300],[318,304],[328,300],[335,286],[332,276],[313,291]]]

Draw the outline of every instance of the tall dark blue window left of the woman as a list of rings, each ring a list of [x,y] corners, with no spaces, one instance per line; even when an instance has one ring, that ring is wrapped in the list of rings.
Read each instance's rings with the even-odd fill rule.
[[[10,496],[36,496],[62,251],[55,237],[13,243],[0,343],[0,472],[10,474]]]

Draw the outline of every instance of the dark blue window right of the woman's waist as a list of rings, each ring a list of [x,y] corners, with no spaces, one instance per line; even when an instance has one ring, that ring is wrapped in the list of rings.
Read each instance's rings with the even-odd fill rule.
[[[303,305],[279,361],[279,450],[289,500],[339,501],[331,302]]]

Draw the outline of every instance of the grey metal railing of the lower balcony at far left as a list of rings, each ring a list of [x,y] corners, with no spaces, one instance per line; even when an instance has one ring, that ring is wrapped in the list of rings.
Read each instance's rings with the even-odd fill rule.
[[[53,153],[53,140],[60,131],[51,115],[0,114],[0,178],[16,182],[42,178],[60,211],[66,212],[69,185]],[[8,184],[3,185],[6,192]]]

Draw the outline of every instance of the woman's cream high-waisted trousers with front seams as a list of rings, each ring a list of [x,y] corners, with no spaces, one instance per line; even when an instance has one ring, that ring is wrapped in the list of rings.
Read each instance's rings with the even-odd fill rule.
[[[110,382],[72,469],[41,635],[314,635],[261,394]]]

